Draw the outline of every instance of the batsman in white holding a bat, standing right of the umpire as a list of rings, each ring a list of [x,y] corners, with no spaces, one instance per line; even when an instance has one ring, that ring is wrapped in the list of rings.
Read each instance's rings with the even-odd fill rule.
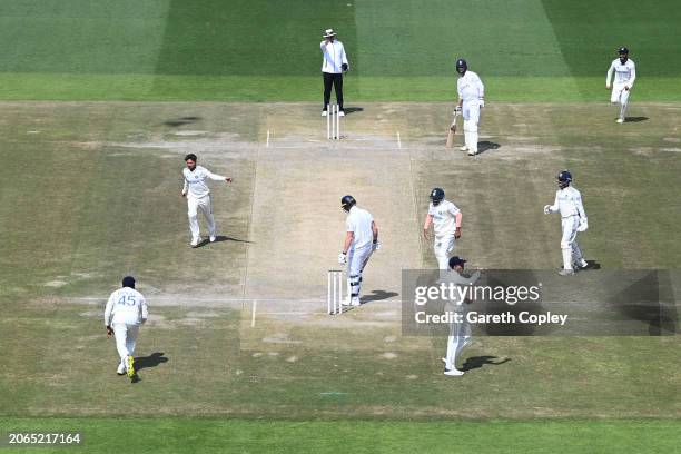
[[[475,72],[468,71],[468,63],[464,59],[456,60],[456,72],[458,73],[456,112],[461,112],[464,119],[465,144],[461,150],[468,151],[468,156],[475,156],[477,155],[480,109],[485,107],[485,86]]]

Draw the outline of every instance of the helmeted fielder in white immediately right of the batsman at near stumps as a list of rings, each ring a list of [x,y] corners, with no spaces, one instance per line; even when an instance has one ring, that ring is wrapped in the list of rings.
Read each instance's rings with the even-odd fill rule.
[[[450,254],[454,250],[454,239],[461,238],[461,221],[463,214],[458,207],[444,199],[445,194],[441,188],[431,191],[431,205],[423,225],[423,237],[428,240],[428,228],[433,224],[435,241],[433,251],[437,258],[440,269],[450,268]]]

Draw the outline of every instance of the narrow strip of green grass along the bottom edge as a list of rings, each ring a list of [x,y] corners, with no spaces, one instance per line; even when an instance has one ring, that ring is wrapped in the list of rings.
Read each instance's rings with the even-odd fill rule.
[[[0,418],[12,431],[82,434],[73,452],[678,453],[678,421],[376,422],[213,418]],[[560,442],[557,442],[560,441]],[[3,445],[0,445],[3,446]],[[40,453],[63,453],[63,447]],[[3,448],[3,453],[36,452]]]

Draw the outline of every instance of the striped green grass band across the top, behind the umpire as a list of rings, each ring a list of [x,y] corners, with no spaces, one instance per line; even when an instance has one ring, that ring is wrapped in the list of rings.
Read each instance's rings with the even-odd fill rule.
[[[680,23],[674,0],[6,2],[0,99],[317,100],[334,27],[351,102],[452,99],[462,56],[490,100],[605,100],[622,45],[639,69],[632,99],[678,101]]]

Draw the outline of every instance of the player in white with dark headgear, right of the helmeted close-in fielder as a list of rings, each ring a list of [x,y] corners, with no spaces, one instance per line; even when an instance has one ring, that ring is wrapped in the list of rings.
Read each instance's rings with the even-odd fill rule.
[[[569,276],[574,274],[575,268],[586,268],[589,266],[576,241],[576,234],[586,230],[589,221],[582,205],[582,195],[570,186],[572,175],[568,170],[563,170],[557,175],[557,180],[560,189],[555,193],[555,201],[553,205],[544,206],[544,214],[561,214],[563,269],[559,274]]]

